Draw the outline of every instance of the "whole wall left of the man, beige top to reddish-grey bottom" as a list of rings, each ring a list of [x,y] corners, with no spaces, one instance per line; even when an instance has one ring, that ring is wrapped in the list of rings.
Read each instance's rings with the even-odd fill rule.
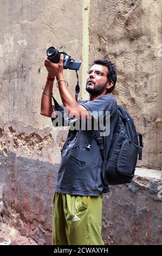
[[[51,243],[51,205],[67,129],[40,114],[46,49],[82,59],[82,1],[0,1],[1,221]],[[81,74],[81,69],[79,75]],[[73,92],[74,71],[64,71]],[[54,96],[61,103],[59,90]],[[3,199],[3,201],[2,201]]]

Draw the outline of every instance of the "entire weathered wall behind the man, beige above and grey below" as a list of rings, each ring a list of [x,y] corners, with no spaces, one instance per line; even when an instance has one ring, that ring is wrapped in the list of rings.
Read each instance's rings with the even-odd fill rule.
[[[67,136],[67,129],[55,129],[40,115],[44,58],[51,45],[82,62],[81,99],[87,99],[88,64],[102,57],[116,64],[114,95],[144,135],[138,166],[161,169],[161,10],[160,0],[0,1],[1,221],[50,244],[51,204]],[[64,74],[74,95],[75,72]],[[54,95],[61,102],[56,87]],[[107,244],[161,243],[161,179],[140,179],[104,197]]]

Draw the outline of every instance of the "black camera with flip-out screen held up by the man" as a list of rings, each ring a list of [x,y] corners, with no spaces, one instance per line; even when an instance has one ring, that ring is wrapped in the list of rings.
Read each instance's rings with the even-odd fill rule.
[[[51,46],[47,49],[46,55],[48,59],[53,63],[60,62],[60,56],[63,53],[63,69],[79,70],[81,62],[74,62],[66,52],[58,51],[55,47]],[[72,61],[73,60],[73,61]]]

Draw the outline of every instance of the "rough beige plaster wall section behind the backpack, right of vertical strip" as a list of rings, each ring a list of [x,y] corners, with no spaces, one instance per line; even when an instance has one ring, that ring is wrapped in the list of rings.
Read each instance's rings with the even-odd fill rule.
[[[161,36],[160,0],[99,0],[90,5],[90,62],[104,56],[116,64],[118,104],[132,114],[143,134],[138,166],[161,169]]]

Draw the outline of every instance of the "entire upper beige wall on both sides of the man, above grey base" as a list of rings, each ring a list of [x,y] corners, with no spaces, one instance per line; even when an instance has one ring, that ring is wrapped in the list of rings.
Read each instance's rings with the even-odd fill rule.
[[[56,147],[54,152],[49,147],[50,141],[58,145],[57,130],[49,118],[40,115],[41,88],[47,75],[44,56],[46,48],[54,45],[82,62],[81,99],[87,98],[88,64],[101,57],[116,64],[118,82],[113,94],[144,135],[144,155],[138,166],[161,169],[161,2],[35,0],[0,4],[0,147],[4,155],[14,150],[17,155],[45,160],[49,150],[53,161],[60,162],[60,149]],[[64,74],[74,95],[75,72],[66,70]],[[60,101],[56,87],[54,95]],[[43,130],[46,137],[34,135],[30,147],[31,134]],[[59,136],[62,133],[66,137],[67,132],[61,131]]]

